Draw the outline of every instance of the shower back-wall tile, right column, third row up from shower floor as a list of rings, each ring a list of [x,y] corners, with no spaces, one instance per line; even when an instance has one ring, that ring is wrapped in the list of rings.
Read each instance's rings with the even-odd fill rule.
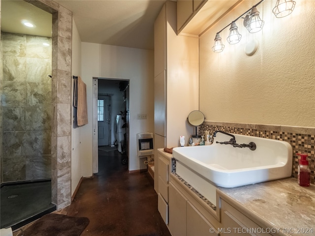
[[[26,130],[51,130],[51,107],[26,107]]]

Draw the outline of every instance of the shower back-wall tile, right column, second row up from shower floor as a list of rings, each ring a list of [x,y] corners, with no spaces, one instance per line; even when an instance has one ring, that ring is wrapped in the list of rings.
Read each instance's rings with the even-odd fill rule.
[[[27,155],[51,154],[51,131],[26,131]]]

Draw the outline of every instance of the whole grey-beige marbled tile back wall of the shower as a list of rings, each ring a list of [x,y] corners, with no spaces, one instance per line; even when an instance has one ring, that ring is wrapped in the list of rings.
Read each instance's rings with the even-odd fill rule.
[[[51,44],[1,32],[1,182],[51,178]]]

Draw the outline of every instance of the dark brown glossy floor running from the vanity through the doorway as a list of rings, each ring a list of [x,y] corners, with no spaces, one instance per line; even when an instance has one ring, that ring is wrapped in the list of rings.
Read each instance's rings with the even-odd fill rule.
[[[99,172],[82,181],[67,215],[90,219],[81,236],[170,236],[153,179],[147,172],[129,174],[124,158],[117,150],[99,150]]]

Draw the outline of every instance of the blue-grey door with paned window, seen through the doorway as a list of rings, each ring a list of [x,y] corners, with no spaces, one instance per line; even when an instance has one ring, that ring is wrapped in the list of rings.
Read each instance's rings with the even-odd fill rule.
[[[109,146],[110,103],[109,96],[98,96],[97,100],[98,146]]]

